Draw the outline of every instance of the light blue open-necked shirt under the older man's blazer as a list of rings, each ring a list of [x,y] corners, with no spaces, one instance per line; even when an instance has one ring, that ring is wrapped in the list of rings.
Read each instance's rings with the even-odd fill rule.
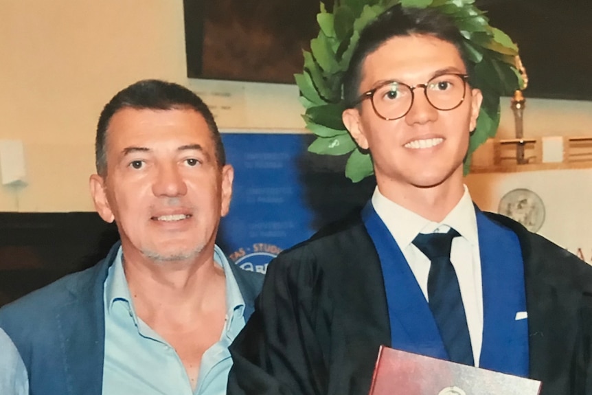
[[[104,284],[103,394],[224,395],[232,359],[228,346],[244,326],[244,300],[230,263],[216,246],[214,261],[226,277],[226,323],[220,340],[201,359],[195,391],[174,348],[137,317],[122,265],[122,249]]]

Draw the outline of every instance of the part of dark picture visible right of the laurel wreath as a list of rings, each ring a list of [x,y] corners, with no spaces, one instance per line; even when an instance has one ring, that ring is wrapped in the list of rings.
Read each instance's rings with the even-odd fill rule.
[[[519,45],[527,98],[592,100],[592,1],[477,0]]]

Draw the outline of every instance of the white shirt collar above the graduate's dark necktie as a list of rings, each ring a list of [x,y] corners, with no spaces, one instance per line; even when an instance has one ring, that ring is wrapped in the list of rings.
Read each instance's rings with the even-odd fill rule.
[[[466,185],[464,185],[464,194],[457,205],[440,223],[430,221],[394,203],[394,201],[390,201],[380,193],[378,187],[374,189],[372,195],[372,206],[400,249],[407,248],[419,233],[447,232],[449,227],[453,227],[471,245],[478,243],[475,206]]]

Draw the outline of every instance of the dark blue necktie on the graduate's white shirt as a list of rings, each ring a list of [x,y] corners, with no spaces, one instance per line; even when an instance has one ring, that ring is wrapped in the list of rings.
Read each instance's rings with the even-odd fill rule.
[[[474,365],[473,348],[456,272],[450,261],[455,229],[448,233],[418,234],[415,247],[431,261],[428,275],[429,306],[451,361]]]

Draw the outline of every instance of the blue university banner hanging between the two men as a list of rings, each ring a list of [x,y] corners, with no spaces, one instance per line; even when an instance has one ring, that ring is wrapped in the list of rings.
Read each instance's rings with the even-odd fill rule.
[[[373,180],[353,184],[343,175],[346,157],[308,153],[312,135],[223,133],[234,166],[229,214],[218,245],[242,269],[265,273],[283,249],[361,206]]]

